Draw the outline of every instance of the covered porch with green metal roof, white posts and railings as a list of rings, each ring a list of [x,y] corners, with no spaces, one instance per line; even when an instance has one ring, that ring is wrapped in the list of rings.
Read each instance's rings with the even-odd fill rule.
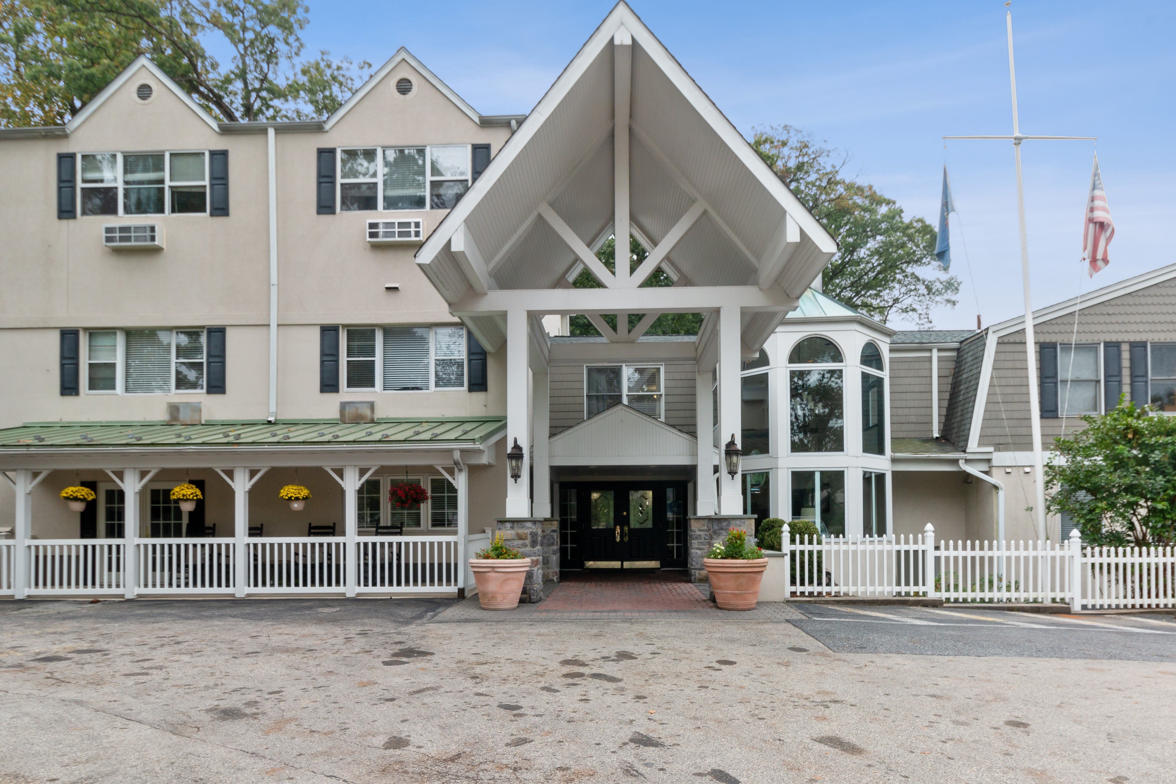
[[[472,484],[500,487],[503,431],[501,417],[0,431],[16,504],[0,595],[461,596],[467,549],[488,538],[470,531],[493,514],[472,520]],[[191,510],[171,498],[180,483],[203,496]],[[310,491],[303,509],[279,497],[288,484]],[[401,508],[399,484],[429,497]],[[96,497],[72,511],[68,485]]]

